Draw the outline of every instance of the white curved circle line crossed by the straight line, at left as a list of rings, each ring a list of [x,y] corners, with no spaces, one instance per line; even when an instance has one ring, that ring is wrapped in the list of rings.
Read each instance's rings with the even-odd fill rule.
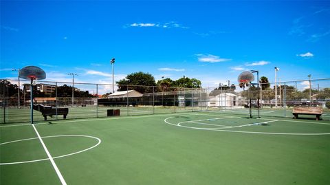
[[[95,144],[94,146],[91,146],[91,147],[89,147],[87,149],[84,149],[82,151],[77,151],[77,152],[74,152],[74,153],[68,153],[68,154],[65,154],[65,155],[59,155],[59,156],[53,157],[53,159],[57,159],[57,158],[61,158],[61,157],[67,157],[69,155],[75,155],[75,154],[78,154],[78,153],[82,153],[84,151],[88,151],[90,149],[95,148],[96,146],[98,146],[101,143],[100,138],[96,138],[96,137],[91,136],[91,135],[51,135],[51,136],[44,136],[44,137],[41,137],[41,138],[58,138],[58,137],[85,137],[85,138],[94,138],[94,139],[98,140],[98,143]],[[23,139],[23,140],[14,140],[14,141],[10,141],[10,142],[0,143],[0,145],[2,145],[2,144],[10,144],[12,142],[21,142],[21,141],[36,140],[36,139],[38,139],[38,138],[28,138],[28,139]],[[39,162],[39,161],[44,161],[44,160],[50,160],[50,159],[49,158],[44,158],[44,159],[41,159],[41,160],[30,160],[30,161],[22,161],[22,162],[6,162],[6,163],[0,163],[0,165],[22,164],[22,163],[30,163],[30,162]]]

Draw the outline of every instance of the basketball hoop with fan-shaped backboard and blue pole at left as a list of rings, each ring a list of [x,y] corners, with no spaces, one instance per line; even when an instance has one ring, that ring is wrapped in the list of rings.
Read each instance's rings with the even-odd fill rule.
[[[23,67],[19,72],[19,76],[26,80],[31,80],[30,82],[30,101],[31,101],[31,123],[33,124],[33,86],[36,85],[36,80],[43,80],[46,78],[46,73],[40,67],[27,66]]]

